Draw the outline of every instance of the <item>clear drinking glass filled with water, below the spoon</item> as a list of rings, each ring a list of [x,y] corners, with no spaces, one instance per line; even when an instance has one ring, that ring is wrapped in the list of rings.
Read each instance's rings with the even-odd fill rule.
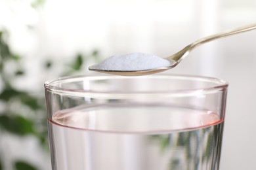
[[[227,88],[183,75],[45,82],[53,170],[219,169]]]

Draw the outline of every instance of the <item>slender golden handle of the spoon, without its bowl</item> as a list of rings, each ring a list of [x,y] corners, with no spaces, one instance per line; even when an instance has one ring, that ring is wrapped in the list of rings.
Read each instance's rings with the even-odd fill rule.
[[[197,46],[204,44],[205,42],[214,41],[216,39],[221,39],[223,37],[228,37],[230,35],[236,35],[238,33],[243,33],[245,31],[251,31],[252,29],[256,29],[256,23],[250,24],[250,25],[245,25],[243,27],[238,27],[236,29],[224,31],[224,32],[217,33],[214,35],[210,35],[210,36],[204,37],[202,39],[198,39],[197,41],[192,42],[191,44],[189,44],[188,46],[183,48],[181,51],[177,52],[176,54],[174,54],[173,56],[170,56],[167,59],[173,59],[177,63],[179,63],[182,58],[186,57],[189,54],[189,52],[191,52]]]

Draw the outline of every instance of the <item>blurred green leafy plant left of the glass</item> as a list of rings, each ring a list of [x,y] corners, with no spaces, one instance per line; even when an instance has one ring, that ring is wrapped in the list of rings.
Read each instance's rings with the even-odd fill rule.
[[[26,71],[22,65],[23,58],[10,50],[7,40],[7,31],[0,31],[0,103],[3,107],[0,109],[0,139],[7,133],[21,138],[32,135],[40,141],[41,146],[47,152],[49,147],[43,84],[39,92],[20,90],[14,86],[13,80],[25,76]],[[88,56],[77,54],[60,76],[79,73],[86,63],[85,59],[88,58],[98,58],[98,51],[94,50]],[[14,65],[11,70],[6,68],[7,63],[10,62]],[[51,71],[54,63],[45,61],[44,65],[46,70]],[[4,155],[1,154],[3,147],[5,146],[1,144],[0,140],[0,170],[4,170],[6,163],[9,163],[4,161]],[[12,167],[16,170],[38,169],[32,165],[32,162],[25,160],[15,160]]]

